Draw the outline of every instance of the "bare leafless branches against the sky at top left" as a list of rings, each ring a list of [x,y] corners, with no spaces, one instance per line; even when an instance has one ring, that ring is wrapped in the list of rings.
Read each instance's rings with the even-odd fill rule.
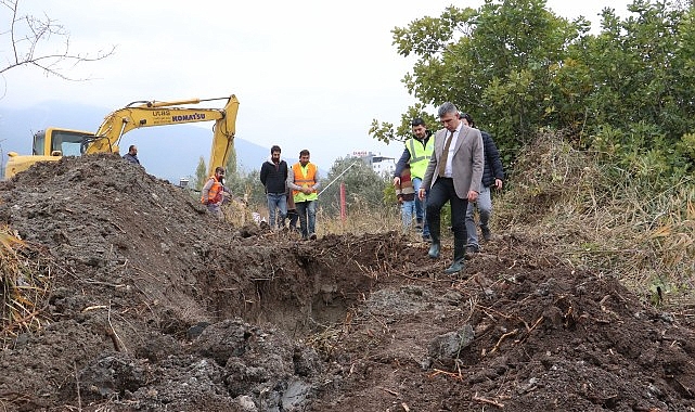
[[[85,81],[89,78],[78,78],[67,73],[80,63],[96,62],[114,54],[116,47],[111,50],[98,51],[94,54],[80,54],[70,51],[70,36],[65,27],[43,14],[37,17],[20,12],[20,0],[0,0],[0,8],[9,11],[11,21],[10,29],[0,31],[0,41],[7,38],[7,47],[0,43],[0,50],[8,50],[4,61],[0,63],[0,75],[21,66],[37,67],[47,76],[56,76],[64,80]],[[42,53],[42,47],[50,46],[54,38],[63,41],[64,46],[57,52]]]

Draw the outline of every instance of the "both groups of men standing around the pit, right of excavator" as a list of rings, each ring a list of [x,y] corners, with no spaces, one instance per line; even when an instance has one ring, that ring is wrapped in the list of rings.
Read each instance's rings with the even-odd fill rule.
[[[439,106],[437,115],[443,128],[434,134],[422,118],[412,120],[413,137],[406,141],[406,150],[396,165],[394,185],[401,203],[403,227],[410,228],[414,214],[423,240],[430,242],[427,254],[433,259],[439,258],[441,208],[449,202],[453,261],[445,273],[454,274],[463,270],[466,250],[477,253],[480,248],[474,220],[476,207],[482,239],[486,242],[491,239],[490,188],[502,189],[504,170],[494,141],[475,128],[471,115],[459,113],[450,102]],[[260,169],[270,226],[284,228],[289,217],[289,227],[294,229],[294,205],[304,240],[317,239],[319,170],[309,158],[305,149],[299,152],[299,162],[288,167],[281,158],[280,146],[274,145]],[[202,202],[216,214],[221,214],[223,176],[224,169],[218,167],[203,188]]]

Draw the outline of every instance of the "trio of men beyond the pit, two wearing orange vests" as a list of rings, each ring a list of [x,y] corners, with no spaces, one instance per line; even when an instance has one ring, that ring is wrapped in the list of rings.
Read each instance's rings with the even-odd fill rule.
[[[299,162],[292,167],[281,157],[278,145],[270,147],[270,156],[260,167],[260,182],[266,190],[268,201],[268,223],[273,229],[285,228],[289,219],[289,229],[297,229],[304,240],[316,240],[317,201],[319,199],[319,168],[309,162],[308,150],[299,152]],[[222,218],[221,205],[224,202],[224,168],[217,167],[202,190],[201,202],[210,213]]]

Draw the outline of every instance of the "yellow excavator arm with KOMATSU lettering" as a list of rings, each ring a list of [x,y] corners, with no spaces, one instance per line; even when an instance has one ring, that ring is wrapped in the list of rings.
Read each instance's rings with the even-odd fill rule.
[[[182,105],[227,99],[222,108],[194,108]],[[140,103],[140,104],[138,104]],[[236,132],[239,100],[234,94],[220,99],[191,99],[173,102],[134,102],[108,114],[94,138],[87,141],[85,153],[118,152],[118,143],[125,133],[142,127],[180,125],[185,123],[215,120],[213,147],[208,164],[208,176],[218,166],[224,166],[233,150]]]

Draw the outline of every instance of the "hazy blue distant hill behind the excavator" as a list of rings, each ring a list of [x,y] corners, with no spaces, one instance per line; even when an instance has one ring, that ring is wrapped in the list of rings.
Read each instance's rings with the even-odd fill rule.
[[[2,168],[8,152],[29,154],[35,132],[47,127],[64,127],[95,131],[113,108],[102,108],[66,102],[46,102],[28,108],[0,106],[0,154]],[[137,129],[124,136],[120,153],[130,144],[138,145],[138,157],[149,173],[177,183],[182,177],[195,173],[201,156],[207,164],[213,142],[213,123],[162,126]],[[237,167],[259,169],[268,158],[270,147],[259,146],[237,134],[234,139]],[[297,162],[287,158],[287,163]]]

